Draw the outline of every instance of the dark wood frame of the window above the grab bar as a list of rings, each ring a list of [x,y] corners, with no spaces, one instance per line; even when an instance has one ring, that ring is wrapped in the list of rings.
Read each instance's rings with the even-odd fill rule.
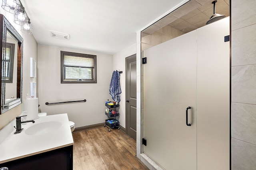
[[[65,66],[64,66],[64,55],[74,56],[74,57],[85,57],[94,59],[94,68],[92,72],[92,80],[81,80],[81,79],[68,79],[65,80]],[[82,54],[82,53],[73,53],[68,51],[60,51],[60,83],[97,83],[97,69],[96,69],[96,55]],[[77,67],[79,68],[79,67]]]

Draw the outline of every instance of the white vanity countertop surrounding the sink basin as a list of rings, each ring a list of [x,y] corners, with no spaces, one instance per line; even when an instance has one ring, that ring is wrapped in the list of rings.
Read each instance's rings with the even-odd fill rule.
[[[27,135],[26,129],[42,122],[58,121],[59,126],[47,133],[41,132],[35,135]],[[47,152],[74,144],[68,115],[48,115],[35,120],[35,123],[22,123],[23,131],[19,134],[13,132],[0,143],[0,164],[24,158],[27,156]],[[46,127],[47,128],[47,127]]]

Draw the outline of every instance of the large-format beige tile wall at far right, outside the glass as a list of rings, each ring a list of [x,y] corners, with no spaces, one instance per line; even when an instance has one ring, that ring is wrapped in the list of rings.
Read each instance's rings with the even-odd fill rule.
[[[256,167],[256,0],[232,0],[232,170]]]

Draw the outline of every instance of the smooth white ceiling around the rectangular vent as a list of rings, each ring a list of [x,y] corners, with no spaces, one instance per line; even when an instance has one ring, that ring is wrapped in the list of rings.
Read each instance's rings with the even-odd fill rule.
[[[196,1],[200,6],[209,2],[209,0],[191,1]],[[150,3],[148,0],[21,0],[21,2],[32,22],[33,35],[38,44],[115,54],[134,45],[137,31],[183,0],[152,0]],[[216,12],[218,12],[217,4]],[[70,40],[54,39],[50,30],[67,33],[70,35]]]

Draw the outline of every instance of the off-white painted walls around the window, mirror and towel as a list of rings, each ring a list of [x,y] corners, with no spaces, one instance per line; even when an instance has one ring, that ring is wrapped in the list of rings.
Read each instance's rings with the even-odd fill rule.
[[[104,109],[106,108],[104,102],[107,99],[111,99],[108,89],[112,72],[113,70],[122,70],[122,102],[120,103],[120,113],[122,115],[120,116],[120,124],[125,127],[125,57],[136,53],[135,45],[116,53],[114,55],[115,61],[113,61],[112,55],[38,45],[33,35],[24,34],[19,30],[20,26],[13,22],[12,14],[5,12],[2,8],[0,8],[0,12],[12,23],[24,39],[23,101],[26,99],[26,94],[30,96],[30,82],[36,82],[37,97],[39,98],[39,109],[41,112],[47,112],[48,115],[68,113],[69,119],[76,123],[76,127],[103,123],[107,119],[104,114]],[[60,84],[60,50],[97,55],[97,84]],[[36,78],[30,78],[30,57],[36,60]],[[80,99],[86,99],[87,102],[56,106],[45,105],[45,102]],[[15,119],[16,116],[20,115],[22,110],[24,110],[24,107],[20,105],[0,115],[0,129]]]

